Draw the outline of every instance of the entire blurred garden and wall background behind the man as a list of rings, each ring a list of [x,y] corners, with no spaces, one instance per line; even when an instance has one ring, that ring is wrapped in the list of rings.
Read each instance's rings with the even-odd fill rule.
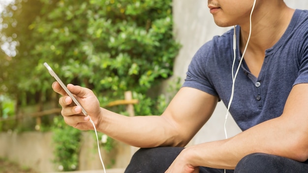
[[[308,9],[307,0],[285,2]],[[103,107],[159,115],[194,53],[227,30],[204,0],[0,0],[0,173],[102,169],[94,132],[63,122],[44,62],[64,83],[92,89]],[[225,111],[219,103],[188,145],[224,138]],[[227,131],[241,132],[232,118]],[[136,150],[99,140],[109,169],[125,168]]]

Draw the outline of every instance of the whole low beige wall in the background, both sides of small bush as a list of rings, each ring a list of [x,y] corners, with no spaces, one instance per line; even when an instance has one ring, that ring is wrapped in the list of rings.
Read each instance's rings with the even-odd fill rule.
[[[82,133],[80,171],[102,169],[93,133]],[[59,165],[53,163],[53,148],[50,132],[0,133],[0,158],[7,158],[40,173],[59,171]],[[125,168],[131,157],[131,147],[122,142],[116,142],[111,152],[106,152],[102,147],[100,151],[106,168]]]

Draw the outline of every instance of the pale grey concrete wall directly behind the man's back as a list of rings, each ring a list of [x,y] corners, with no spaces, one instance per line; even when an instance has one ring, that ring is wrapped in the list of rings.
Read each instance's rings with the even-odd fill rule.
[[[284,0],[290,7],[308,9],[308,0]],[[173,0],[176,39],[183,45],[175,60],[174,74],[185,79],[185,72],[191,58],[199,47],[214,35],[221,35],[229,28],[217,27],[206,0]],[[192,144],[223,139],[226,108],[218,103],[208,123],[192,139]],[[228,137],[241,132],[231,116],[227,122]]]

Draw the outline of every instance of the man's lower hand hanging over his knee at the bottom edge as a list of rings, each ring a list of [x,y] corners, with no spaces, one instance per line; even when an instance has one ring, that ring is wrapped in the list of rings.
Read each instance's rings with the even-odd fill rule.
[[[173,161],[165,173],[199,173],[199,167],[189,164],[188,150],[185,148]]]

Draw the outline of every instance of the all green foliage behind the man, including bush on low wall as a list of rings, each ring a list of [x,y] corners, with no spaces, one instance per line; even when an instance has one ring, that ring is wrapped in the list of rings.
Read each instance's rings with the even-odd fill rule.
[[[131,90],[139,100],[136,115],[165,109],[164,95],[148,93],[172,75],[180,48],[172,0],[16,0],[0,17],[8,26],[0,30],[0,44],[12,47],[0,54],[0,93],[18,105],[50,99],[47,62],[64,83],[92,89],[101,106]],[[125,106],[114,111],[126,114]],[[55,125],[56,162],[69,170],[78,163],[80,134],[59,119]]]

